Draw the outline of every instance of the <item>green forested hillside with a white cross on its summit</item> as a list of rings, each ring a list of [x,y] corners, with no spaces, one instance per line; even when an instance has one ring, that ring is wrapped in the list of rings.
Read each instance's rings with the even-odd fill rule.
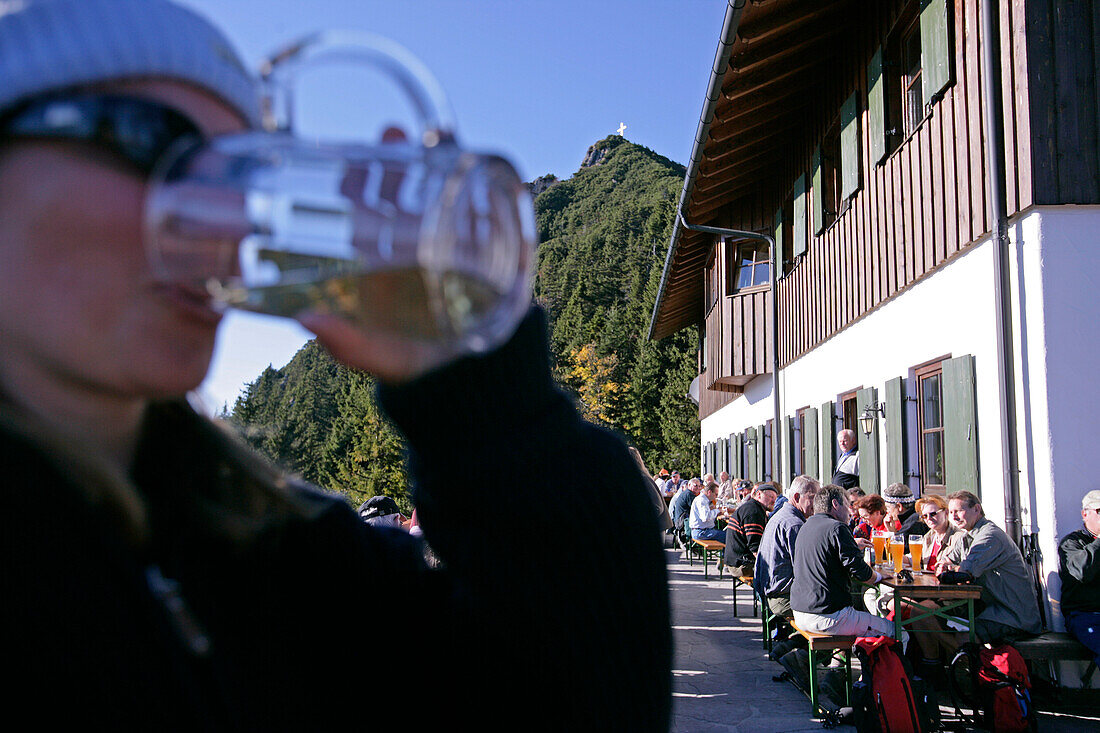
[[[650,470],[697,471],[698,422],[688,331],[646,339],[683,166],[618,135],[593,145],[568,180],[538,194],[536,299],[547,309],[559,383],[584,415],[637,446]],[[384,493],[409,507],[400,436],[369,376],[309,342],[266,369],[229,419],[265,455],[358,504]]]

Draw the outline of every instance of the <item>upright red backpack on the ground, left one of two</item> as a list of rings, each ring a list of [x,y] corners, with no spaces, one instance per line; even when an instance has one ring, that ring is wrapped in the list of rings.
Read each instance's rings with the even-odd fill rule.
[[[908,663],[889,636],[856,639],[862,676],[853,685],[856,730],[860,733],[921,733],[931,730],[914,692]]]

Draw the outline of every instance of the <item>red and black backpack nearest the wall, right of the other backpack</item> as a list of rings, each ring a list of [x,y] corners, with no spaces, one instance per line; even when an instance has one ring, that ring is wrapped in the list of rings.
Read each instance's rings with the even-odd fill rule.
[[[1035,709],[1031,701],[1031,678],[1027,665],[1011,644],[986,648],[964,644],[952,660],[948,679],[956,696],[966,699],[958,689],[956,665],[967,660],[976,696],[969,700],[975,709],[975,722],[997,733],[1024,733],[1036,730]],[[979,718],[981,720],[977,720]]]

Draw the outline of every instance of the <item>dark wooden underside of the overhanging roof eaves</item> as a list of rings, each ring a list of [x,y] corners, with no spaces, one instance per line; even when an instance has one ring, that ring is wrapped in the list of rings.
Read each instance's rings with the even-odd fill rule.
[[[788,156],[813,133],[809,120],[821,105],[822,79],[835,73],[839,51],[855,44],[848,19],[869,1],[728,0],[680,197],[688,222],[728,226],[721,216],[738,199],[793,184]],[[714,234],[675,222],[651,339],[703,320],[703,269],[713,245]]]

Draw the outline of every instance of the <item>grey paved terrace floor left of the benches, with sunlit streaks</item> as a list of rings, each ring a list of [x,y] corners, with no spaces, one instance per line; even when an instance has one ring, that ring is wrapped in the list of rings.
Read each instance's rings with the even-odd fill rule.
[[[763,653],[748,589],[738,591],[735,619],[728,575],[719,581],[712,566],[710,580],[704,580],[698,560],[689,566],[679,550],[666,550],[666,556],[675,645],[672,732],[821,731],[821,721],[810,716],[810,700],[791,682],[772,681],[783,668]],[[853,674],[858,679],[855,664]],[[1100,690],[1067,691],[1056,708],[1040,700],[1040,711],[1043,732],[1100,731]]]

